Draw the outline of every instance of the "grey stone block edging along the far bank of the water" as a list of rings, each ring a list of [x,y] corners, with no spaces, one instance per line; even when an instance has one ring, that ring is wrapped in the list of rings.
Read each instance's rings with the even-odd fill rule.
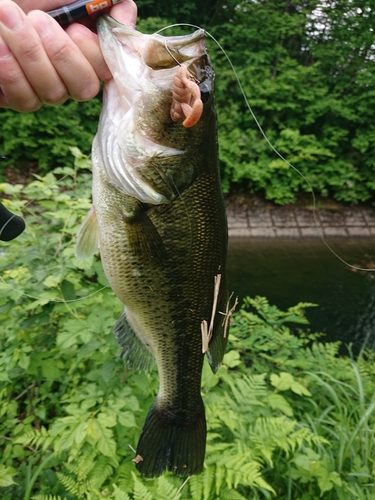
[[[375,209],[371,207],[317,209],[316,226],[312,210],[304,208],[227,208],[231,237],[300,238],[375,236]]]

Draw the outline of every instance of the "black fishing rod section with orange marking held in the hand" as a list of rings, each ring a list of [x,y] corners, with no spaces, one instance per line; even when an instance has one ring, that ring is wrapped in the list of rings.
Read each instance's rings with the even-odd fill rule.
[[[50,10],[47,14],[52,16],[61,26],[68,26],[83,17],[97,14],[122,1],[123,0],[77,0],[68,5],[63,5],[58,9]]]

